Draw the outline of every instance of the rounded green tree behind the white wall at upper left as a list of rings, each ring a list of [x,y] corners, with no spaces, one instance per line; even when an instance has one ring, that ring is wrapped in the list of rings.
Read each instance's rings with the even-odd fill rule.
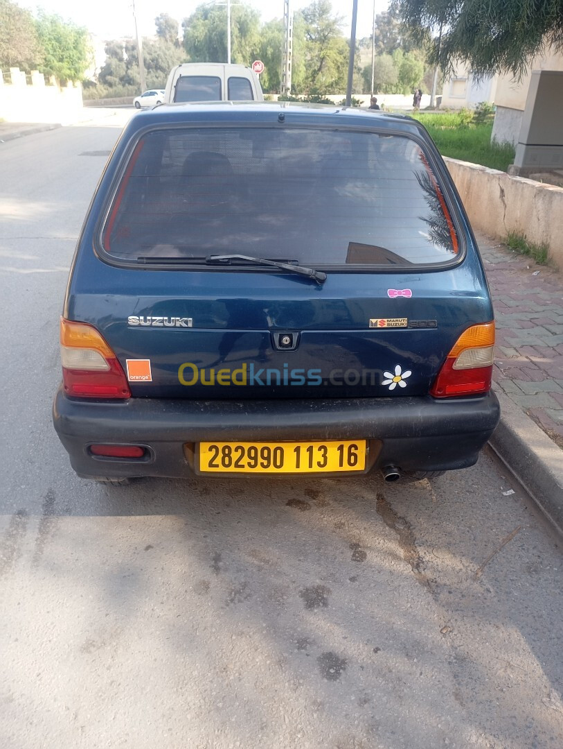
[[[55,76],[61,82],[81,80],[92,61],[87,30],[43,11],[40,11],[36,28],[43,49],[41,73]]]

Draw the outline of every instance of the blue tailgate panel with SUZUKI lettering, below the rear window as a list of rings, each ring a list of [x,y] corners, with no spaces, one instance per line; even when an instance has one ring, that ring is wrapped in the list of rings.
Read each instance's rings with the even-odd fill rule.
[[[425,395],[460,333],[491,319],[470,266],[401,277],[335,273],[322,288],[262,271],[120,271],[149,288],[165,281],[167,296],[112,294],[111,314],[107,297],[76,296],[73,319],[100,330],[129,368],[134,396]],[[215,291],[203,294],[206,287]],[[135,378],[149,372],[135,364],[147,360],[150,377]]]

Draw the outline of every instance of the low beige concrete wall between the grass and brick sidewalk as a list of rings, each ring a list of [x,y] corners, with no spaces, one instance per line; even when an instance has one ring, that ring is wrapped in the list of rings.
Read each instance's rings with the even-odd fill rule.
[[[473,228],[505,239],[509,231],[547,244],[548,257],[563,270],[563,188],[465,161],[445,158]]]

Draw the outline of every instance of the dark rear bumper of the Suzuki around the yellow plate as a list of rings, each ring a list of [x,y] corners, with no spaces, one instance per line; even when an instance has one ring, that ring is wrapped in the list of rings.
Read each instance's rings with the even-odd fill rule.
[[[477,461],[498,421],[493,392],[449,400],[130,398],[108,403],[72,400],[59,389],[53,405],[55,430],[74,470],[91,477],[193,477],[184,445],[202,441],[365,439],[370,440],[368,473],[387,465],[452,470]],[[144,445],[149,455],[141,461],[98,458],[88,452],[90,443]]]

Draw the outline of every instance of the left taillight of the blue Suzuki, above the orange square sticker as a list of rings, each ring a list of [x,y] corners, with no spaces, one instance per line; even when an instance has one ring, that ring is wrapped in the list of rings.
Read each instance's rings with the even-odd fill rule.
[[[92,325],[61,318],[61,361],[67,395],[76,398],[130,398],[117,357]]]

